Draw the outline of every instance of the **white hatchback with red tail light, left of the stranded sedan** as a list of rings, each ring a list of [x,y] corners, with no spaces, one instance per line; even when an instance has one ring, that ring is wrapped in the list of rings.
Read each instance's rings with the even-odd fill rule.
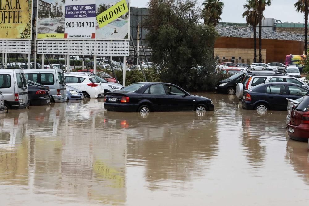
[[[84,99],[104,97],[104,88],[96,77],[70,73],[66,73],[64,76],[68,86],[83,92]]]

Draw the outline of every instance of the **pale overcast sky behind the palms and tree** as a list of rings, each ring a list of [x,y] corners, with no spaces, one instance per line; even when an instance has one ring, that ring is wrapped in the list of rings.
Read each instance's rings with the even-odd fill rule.
[[[200,4],[203,0],[198,0]],[[131,6],[146,7],[148,0],[131,0]],[[222,0],[224,2],[224,10],[222,14],[223,22],[245,22],[242,18],[243,4],[246,0]],[[272,5],[267,7],[264,16],[265,18],[274,18],[281,20],[282,23],[288,22],[301,22],[304,23],[303,13],[295,11],[294,3],[296,0],[272,0]]]

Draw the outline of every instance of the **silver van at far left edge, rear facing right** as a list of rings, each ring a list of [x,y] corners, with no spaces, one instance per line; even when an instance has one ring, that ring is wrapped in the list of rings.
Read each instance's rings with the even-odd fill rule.
[[[0,90],[4,96],[6,109],[29,107],[28,85],[24,70],[0,69]]]

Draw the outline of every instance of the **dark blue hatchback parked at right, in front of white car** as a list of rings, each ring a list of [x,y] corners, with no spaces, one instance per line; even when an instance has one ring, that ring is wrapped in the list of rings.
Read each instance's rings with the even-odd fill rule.
[[[309,94],[309,90],[293,83],[265,83],[243,91],[243,109],[257,111],[287,110],[288,99],[298,99]]]

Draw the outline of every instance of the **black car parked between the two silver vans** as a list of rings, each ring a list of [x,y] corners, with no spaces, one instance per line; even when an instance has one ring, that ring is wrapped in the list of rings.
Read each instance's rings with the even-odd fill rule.
[[[48,86],[27,80],[30,105],[50,104],[51,96]]]

